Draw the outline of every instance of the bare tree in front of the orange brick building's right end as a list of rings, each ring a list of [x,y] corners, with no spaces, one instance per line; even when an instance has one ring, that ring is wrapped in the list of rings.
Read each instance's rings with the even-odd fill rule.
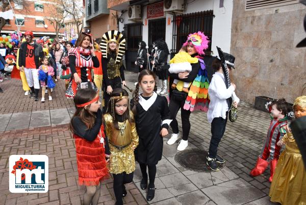
[[[53,25],[56,36],[55,39],[59,39],[59,32],[60,29],[63,28],[64,25],[64,20],[67,17],[68,13],[65,12],[63,5],[61,4],[52,4],[52,5],[47,5],[47,14],[48,16],[45,16],[45,18],[50,21],[50,24]]]

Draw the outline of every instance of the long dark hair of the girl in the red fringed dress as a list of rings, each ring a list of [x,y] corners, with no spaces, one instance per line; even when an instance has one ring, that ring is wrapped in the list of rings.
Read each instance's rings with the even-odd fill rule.
[[[73,102],[74,105],[80,105],[87,103],[93,100],[97,95],[97,92],[94,89],[79,89],[77,94],[74,96]],[[70,130],[73,132],[72,121],[73,118],[79,117],[80,120],[86,125],[87,129],[91,129],[95,123],[95,115],[93,112],[89,111],[90,105],[85,107],[77,107],[75,106],[75,112],[70,121]]]

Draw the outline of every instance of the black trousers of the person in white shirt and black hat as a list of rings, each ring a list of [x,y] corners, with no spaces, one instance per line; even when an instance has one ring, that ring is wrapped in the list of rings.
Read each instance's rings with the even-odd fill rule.
[[[223,119],[221,117],[213,119],[212,127],[211,127],[212,138],[211,138],[211,142],[209,145],[209,157],[210,158],[216,158],[217,156],[218,146],[225,132],[227,114],[228,112],[226,112],[226,119]]]

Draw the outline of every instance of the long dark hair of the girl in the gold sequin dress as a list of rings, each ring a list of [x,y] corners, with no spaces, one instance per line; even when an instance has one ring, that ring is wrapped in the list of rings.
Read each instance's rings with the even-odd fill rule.
[[[116,119],[115,106],[116,106],[116,103],[121,101],[123,98],[112,99],[112,97],[119,97],[119,96],[127,97],[125,99],[127,99],[128,106],[127,106],[126,111],[122,115],[123,122],[125,120],[129,120],[130,123],[134,122],[134,120],[130,116],[130,109],[131,108],[130,108],[130,102],[129,102],[129,98],[128,98],[129,94],[126,92],[125,89],[115,88],[115,89],[113,89],[113,92],[111,94],[111,99],[110,99],[109,104],[108,104],[107,113],[109,113],[112,116],[114,128],[117,129],[117,130],[119,130],[119,125],[118,125],[118,120]]]

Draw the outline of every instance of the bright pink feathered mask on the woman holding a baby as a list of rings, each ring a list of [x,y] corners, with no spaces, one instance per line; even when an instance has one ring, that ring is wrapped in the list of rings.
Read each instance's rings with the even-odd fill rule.
[[[204,50],[208,48],[208,37],[204,35],[202,32],[198,31],[197,33],[189,34],[187,37],[187,41],[183,45],[188,45],[188,43],[192,43],[195,47],[196,52],[199,55],[204,55]]]

